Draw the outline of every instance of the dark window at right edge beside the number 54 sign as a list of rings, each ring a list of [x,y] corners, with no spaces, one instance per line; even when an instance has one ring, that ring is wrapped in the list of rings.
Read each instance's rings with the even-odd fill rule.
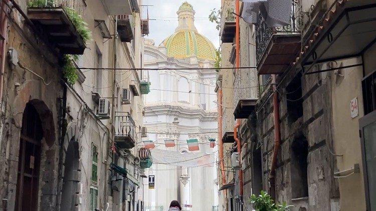
[[[376,71],[361,81],[363,91],[364,115],[376,110]]]

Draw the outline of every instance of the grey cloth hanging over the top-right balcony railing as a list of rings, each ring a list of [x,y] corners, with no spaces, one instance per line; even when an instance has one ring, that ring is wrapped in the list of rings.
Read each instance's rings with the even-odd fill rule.
[[[268,27],[284,26],[290,23],[292,0],[243,0],[243,20],[257,23],[259,13]]]

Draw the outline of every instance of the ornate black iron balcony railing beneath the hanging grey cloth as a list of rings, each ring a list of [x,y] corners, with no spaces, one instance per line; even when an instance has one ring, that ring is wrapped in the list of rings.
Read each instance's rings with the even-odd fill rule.
[[[268,27],[264,17],[259,13],[256,23],[256,59],[260,60],[273,34],[299,34],[301,31],[300,0],[291,1],[290,23],[285,26]]]

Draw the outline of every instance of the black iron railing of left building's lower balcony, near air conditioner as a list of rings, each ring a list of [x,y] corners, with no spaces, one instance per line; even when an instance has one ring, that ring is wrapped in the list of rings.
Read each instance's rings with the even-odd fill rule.
[[[129,136],[134,142],[137,137],[135,128],[134,120],[128,112],[115,113],[115,136]]]

